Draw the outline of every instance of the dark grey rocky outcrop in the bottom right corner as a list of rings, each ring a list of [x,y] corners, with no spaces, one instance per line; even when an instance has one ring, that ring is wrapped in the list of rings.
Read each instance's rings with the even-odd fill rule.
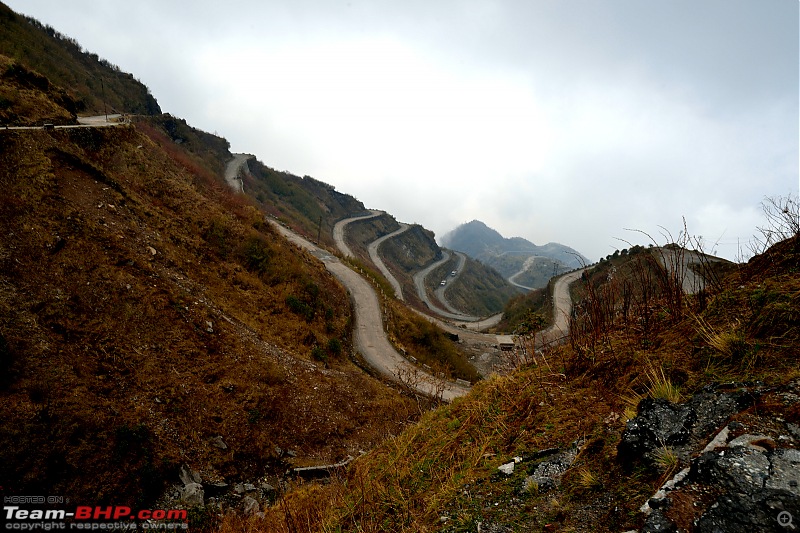
[[[685,466],[642,506],[643,533],[800,527],[800,381],[733,388],[707,387],[681,405],[643,401],[628,423],[621,461],[650,461],[669,447]]]

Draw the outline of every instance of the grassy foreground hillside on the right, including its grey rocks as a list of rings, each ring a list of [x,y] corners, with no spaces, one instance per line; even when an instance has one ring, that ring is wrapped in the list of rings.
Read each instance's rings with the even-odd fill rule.
[[[705,299],[686,296],[667,312],[670,296],[659,294],[646,330],[607,311],[597,342],[579,328],[426,414],[342,482],[298,488],[287,499],[296,521],[276,509],[249,527],[780,531],[776,517],[800,511],[790,481],[800,447],[799,259],[796,235]],[[599,276],[583,283],[608,292]],[[684,481],[651,498],[684,468]]]

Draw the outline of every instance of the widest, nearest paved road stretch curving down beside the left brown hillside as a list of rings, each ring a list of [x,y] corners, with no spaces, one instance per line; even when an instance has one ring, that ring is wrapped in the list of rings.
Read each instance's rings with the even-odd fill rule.
[[[378,296],[363,277],[344,265],[336,256],[315,246],[278,222],[272,219],[268,220],[290,242],[319,258],[325,267],[347,287],[355,305],[356,349],[367,364],[393,381],[403,382],[429,396],[441,395],[446,401],[451,401],[469,392],[469,387],[445,381],[421,371],[394,349],[383,331]]]

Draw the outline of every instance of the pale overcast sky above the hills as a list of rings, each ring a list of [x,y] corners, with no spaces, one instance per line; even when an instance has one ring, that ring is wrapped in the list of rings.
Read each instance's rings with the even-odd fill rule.
[[[797,195],[797,0],[4,0],[233,152],[437,238],[751,255]]]

